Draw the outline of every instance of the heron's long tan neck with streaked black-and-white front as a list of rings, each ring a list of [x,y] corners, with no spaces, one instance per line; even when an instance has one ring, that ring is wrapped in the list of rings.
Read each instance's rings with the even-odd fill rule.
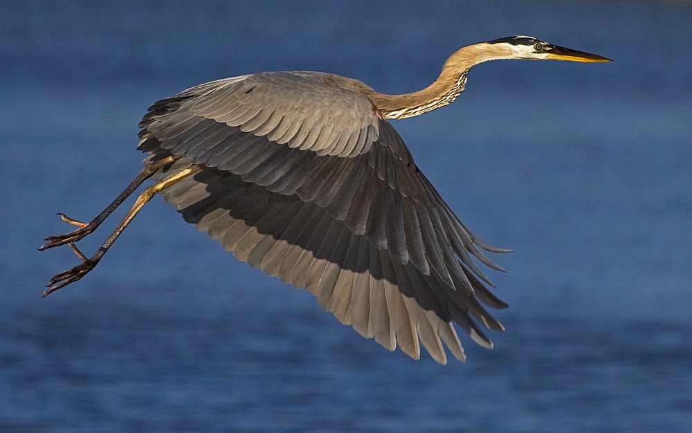
[[[481,45],[485,45],[485,53],[480,55]],[[465,46],[451,55],[442,66],[442,72],[437,80],[423,90],[403,95],[385,95],[376,91],[367,92],[377,109],[388,119],[403,119],[427,113],[453,102],[466,86],[468,70],[485,62],[502,58],[488,55],[488,44]]]

